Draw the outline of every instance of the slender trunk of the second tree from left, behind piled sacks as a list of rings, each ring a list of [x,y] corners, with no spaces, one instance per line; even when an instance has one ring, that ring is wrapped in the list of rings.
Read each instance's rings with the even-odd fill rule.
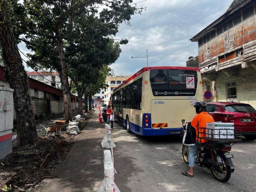
[[[55,34],[56,34],[56,42],[59,48],[59,57],[60,57],[60,64],[61,64],[61,71],[60,80],[62,83],[62,91],[63,91],[63,103],[64,103],[64,119],[71,120],[72,113],[71,113],[71,98],[70,98],[70,89],[69,89],[69,82],[68,82],[68,69],[66,66],[64,49],[63,49],[63,42],[60,37],[60,23],[57,23],[55,26]]]

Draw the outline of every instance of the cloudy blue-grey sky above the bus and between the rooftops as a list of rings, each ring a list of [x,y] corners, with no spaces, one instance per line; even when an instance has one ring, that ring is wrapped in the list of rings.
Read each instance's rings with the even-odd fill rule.
[[[140,2],[142,0],[134,0]],[[233,0],[147,0],[138,7],[147,7],[142,14],[130,20],[132,26],[122,23],[115,39],[128,39],[121,45],[122,53],[110,67],[114,75],[132,75],[147,66],[186,66],[190,56],[198,55],[197,42],[189,39],[219,18]],[[29,52],[19,44],[24,53]],[[23,55],[23,59],[27,60]],[[25,67],[31,71],[31,68]]]

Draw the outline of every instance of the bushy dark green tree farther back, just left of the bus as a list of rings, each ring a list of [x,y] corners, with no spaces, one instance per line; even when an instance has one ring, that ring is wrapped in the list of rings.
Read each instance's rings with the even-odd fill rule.
[[[82,115],[82,96],[86,88],[90,85],[96,90],[103,87],[98,80],[104,76],[105,81],[109,71],[107,66],[118,59],[121,49],[119,43],[97,33],[83,36],[77,43],[67,43],[65,49],[69,76],[78,93],[78,114]]]

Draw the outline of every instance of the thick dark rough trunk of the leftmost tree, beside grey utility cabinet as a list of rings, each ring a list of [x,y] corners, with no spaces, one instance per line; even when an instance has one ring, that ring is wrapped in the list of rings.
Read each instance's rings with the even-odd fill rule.
[[[37,139],[35,119],[32,115],[27,74],[10,26],[6,1],[0,0],[0,42],[4,59],[4,76],[14,89],[13,101],[17,120],[15,145],[32,144]]]

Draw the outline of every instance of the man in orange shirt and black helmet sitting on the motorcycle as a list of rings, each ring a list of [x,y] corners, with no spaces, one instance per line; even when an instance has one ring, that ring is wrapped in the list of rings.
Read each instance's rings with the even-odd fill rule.
[[[181,173],[182,175],[186,175],[189,177],[193,177],[193,168],[195,164],[195,158],[197,153],[197,146],[200,146],[200,143],[205,143],[207,140],[201,139],[201,137],[204,137],[206,129],[200,129],[200,128],[206,128],[206,123],[212,123],[214,122],[214,119],[212,116],[210,116],[206,111],[207,105],[203,101],[196,102],[194,104],[194,107],[196,108],[197,115],[194,117],[194,119],[191,121],[191,126],[196,129],[196,142],[195,145],[192,146],[189,152],[188,156],[188,171]],[[199,123],[199,128],[198,128]]]

